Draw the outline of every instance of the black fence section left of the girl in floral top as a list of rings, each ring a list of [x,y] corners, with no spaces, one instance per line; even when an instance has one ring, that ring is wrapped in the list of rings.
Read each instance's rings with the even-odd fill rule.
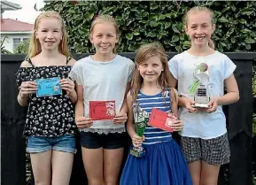
[[[26,109],[16,100],[15,73],[20,61],[1,62],[1,182],[25,185],[26,146],[22,132]]]

